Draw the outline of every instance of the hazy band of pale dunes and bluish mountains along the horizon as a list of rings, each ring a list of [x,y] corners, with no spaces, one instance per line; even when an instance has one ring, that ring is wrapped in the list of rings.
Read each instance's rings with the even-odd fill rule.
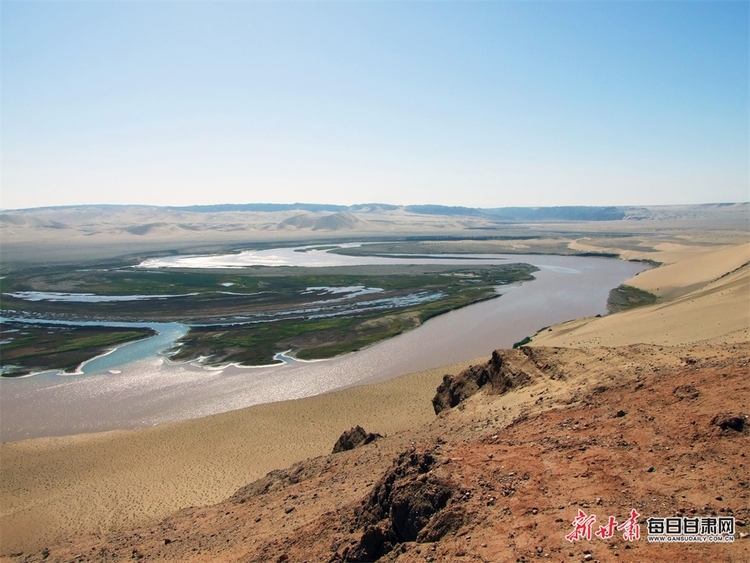
[[[663,206],[463,207],[246,203],[159,207],[77,205],[3,210],[3,264],[82,262],[143,252],[208,252],[247,244],[311,240],[530,238],[591,225],[618,232],[665,222],[745,232],[750,204]],[[585,225],[589,226],[586,227]],[[638,227],[636,227],[638,224]],[[567,226],[566,226],[567,225]]]

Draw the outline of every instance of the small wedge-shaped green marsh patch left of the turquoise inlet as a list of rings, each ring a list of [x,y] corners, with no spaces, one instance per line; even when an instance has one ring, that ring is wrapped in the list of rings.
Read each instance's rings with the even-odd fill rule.
[[[15,377],[59,369],[71,371],[120,344],[154,336],[149,328],[0,324],[0,371]]]

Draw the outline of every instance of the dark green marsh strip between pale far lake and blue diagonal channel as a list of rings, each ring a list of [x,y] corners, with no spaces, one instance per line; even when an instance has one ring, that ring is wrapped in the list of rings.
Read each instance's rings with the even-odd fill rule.
[[[253,268],[243,271],[80,271],[14,273],[3,280],[0,308],[17,315],[68,320],[154,321],[206,324],[237,317],[282,315],[340,303],[343,294],[311,288],[377,288],[382,298],[418,291],[447,296],[473,287],[494,287],[531,279],[528,264],[497,266],[357,266],[348,268]],[[105,296],[160,296],[137,301],[30,301],[17,292],[92,293]],[[16,296],[14,296],[16,295]],[[355,296],[352,304],[372,295]],[[7,313],[6,313],[7,315]]]

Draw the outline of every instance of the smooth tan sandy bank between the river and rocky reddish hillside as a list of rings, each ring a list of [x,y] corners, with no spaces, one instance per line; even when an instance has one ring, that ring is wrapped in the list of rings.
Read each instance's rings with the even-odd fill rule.
[[[380,434],[423,424],[442,375],[466,365],[154,428],[3,444],[0,553],[218,502],[272,469],[330,453],[356,424]]]

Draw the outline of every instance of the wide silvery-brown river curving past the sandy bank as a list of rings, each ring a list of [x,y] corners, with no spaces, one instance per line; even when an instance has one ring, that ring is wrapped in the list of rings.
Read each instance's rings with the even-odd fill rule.
[[[311,253],[295,254],[300,260],[311,256]],[[84,369],[82,375],[47,373],[3,378],[0,440],[152,426],[308,397],[486,356],[496,348],[512,346],[541,327],[606,314],[610,289],[646,269],[643,264],[607,258],[541,255],[493,258],[526,262],[540,270],[534,273],[534,281],[502,288],[503,296],[499,299],[452,311],[416,330],[331,360],[207,369],[173,364],[148,353],[145,357],[135,354],[122,365],[113,365],[108,359],[98,373]],[[196,261],[200,260],[196,257]],[[338,263],[339,260],[336,258]],[[349,264],[358,260],[346,258]],[[397,258],[381,260],[391,264],[413,263]],[[381,260],[378,263],[384,263]],[[215,258],[210,261],[211,267],[217,267]],[[372,260],[364,258],[360,263],[363,262]],[[465,260],[456,262],[466,264]],[[149,264],[150,267],[170,265]],[[172,330],[179,333],[179,329]],[[126,345],[121,352],[127,346],[137,345]]]

